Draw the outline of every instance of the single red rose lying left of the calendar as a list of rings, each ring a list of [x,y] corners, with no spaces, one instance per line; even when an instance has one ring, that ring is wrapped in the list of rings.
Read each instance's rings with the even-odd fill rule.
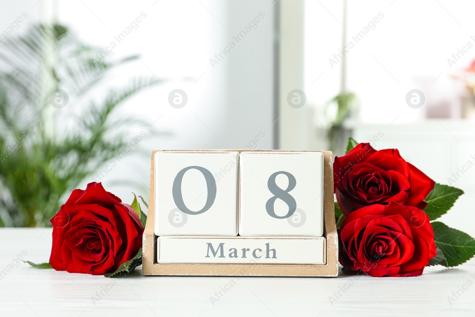
[[[143,226],[131,205],[101,183],[76,189],[53,224],[49,263],[56,270],[100,275],[132,259],[142,246]]]

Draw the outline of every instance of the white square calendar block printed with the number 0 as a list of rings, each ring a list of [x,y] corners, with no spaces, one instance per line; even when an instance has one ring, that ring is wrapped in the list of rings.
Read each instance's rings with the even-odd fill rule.
[[[155,234],[237,235],[238,152],[155,154]]]

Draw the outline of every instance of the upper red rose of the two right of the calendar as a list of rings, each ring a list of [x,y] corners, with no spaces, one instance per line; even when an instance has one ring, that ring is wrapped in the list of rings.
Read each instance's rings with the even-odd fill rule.
[[[390,202],[424,209],[435,184],[404,161],[397,149],[376,151],[369,143],[335,157],[333,179],[336,200],[346,216],[364,206]]]

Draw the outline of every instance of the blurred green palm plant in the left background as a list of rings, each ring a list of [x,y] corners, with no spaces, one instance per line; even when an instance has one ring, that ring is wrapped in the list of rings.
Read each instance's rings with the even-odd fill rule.
[[[1,44],[0,226],[48,226],[62,197],[124,148],[121,129],[133,119],[114,110],[159,80],[134,80],[96,103],[93,88],[135,58],[105,62],[100,52],[62,25],[37,25]],[[57,89],[74,115],[52,106],[66,103]]]

